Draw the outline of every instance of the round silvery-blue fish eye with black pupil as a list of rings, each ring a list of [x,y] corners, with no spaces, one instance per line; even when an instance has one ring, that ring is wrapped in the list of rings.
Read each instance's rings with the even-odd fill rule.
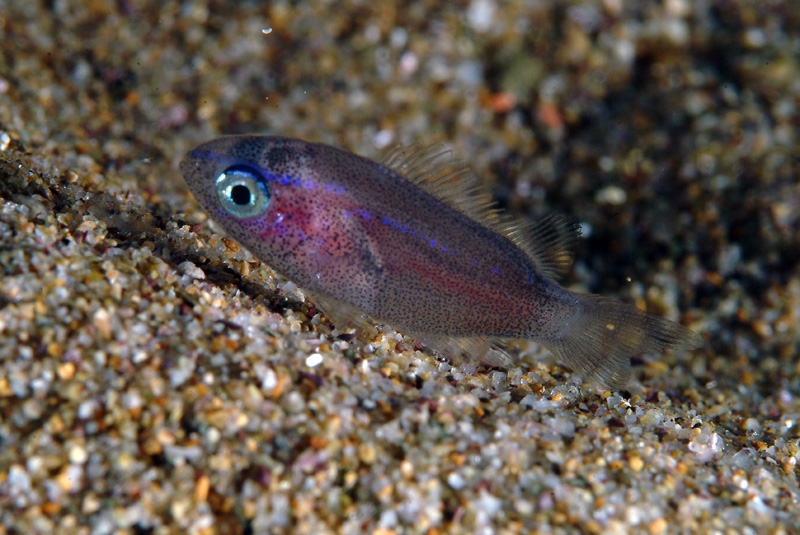
[[[269,205],[267,181],[250,167],[225,169],[217,177],[216,189],[222,207],[234,217],[246,219],[259,216]]]

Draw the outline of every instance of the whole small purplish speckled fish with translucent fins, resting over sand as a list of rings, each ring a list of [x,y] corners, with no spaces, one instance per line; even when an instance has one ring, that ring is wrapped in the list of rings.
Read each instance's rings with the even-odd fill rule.
[[[198,145],[179,168],[208,216],[336,327],[389,325],[465,369],[507,365],[503,348],[530,340],[616,389],[632,356],[703,343],[679,323],[562,287],[580,227],[556,214],[516,222],[441,144],[374,161],[232,136]]]

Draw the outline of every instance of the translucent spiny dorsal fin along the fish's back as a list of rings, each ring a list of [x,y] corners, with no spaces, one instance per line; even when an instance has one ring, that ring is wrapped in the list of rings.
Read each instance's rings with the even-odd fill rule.
[[[497,207],[472,171],[453,158],[443,143],[414,144],[389,151],[381,163],[473,221],[510,239],[536,268],[555,280],[572,265],[580,227],[550,214],[536,223],[520,223]]]

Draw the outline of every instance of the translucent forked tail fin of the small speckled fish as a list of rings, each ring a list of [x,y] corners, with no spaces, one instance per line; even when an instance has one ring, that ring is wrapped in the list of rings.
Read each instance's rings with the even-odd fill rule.
[[[614,299],[579,295],[578,313],[557,339],[544,346],[587,380],[620,388],[630,376],[630,357],[664,349],[694,349],[703,339],[673,321]]]

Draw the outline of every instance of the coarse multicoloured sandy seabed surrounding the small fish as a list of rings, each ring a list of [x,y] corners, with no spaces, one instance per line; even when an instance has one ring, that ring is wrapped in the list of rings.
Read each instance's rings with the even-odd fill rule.
[[[0,535],[800,533],[800,5],[0,0]],[[681,321],[621,392],[341,336],[177,162],[444,141],[565,284]]]

